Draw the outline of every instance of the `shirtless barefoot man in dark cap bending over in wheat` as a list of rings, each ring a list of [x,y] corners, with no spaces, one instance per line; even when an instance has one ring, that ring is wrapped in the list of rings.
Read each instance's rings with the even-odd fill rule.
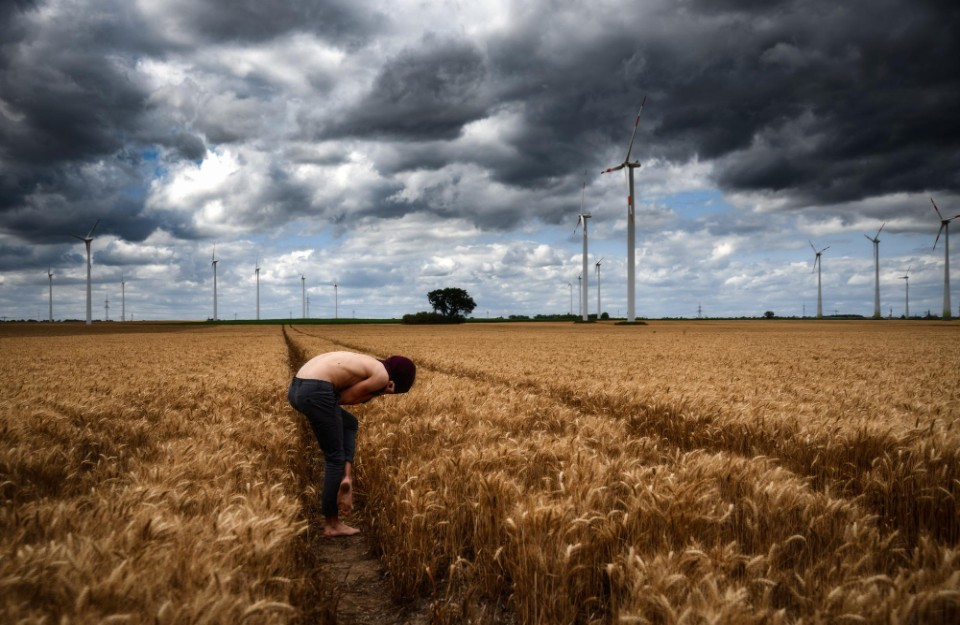
[[[354,352],[320,354],[300,367],[290,382],[287,399],[307,417],[323,451],[324,536],[352,536],[360,532],[340,520],[353,507],[353,456],[357,418],[342,405],[370,401],[378,395],[406,393],[417,369],[409,358],[377,360]]]

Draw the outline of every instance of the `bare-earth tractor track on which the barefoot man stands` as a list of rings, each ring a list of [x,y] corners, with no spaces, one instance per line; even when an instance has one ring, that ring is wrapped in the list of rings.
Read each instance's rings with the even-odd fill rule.
[[[283,326],[291,377],[308,355]],[[362,530],[356,536],[324,538],[319,489],[323,484],[323,456],[306,420],[299,418],[304,457],[296,473],[300,478],[301,504],[309,525],[302,537],[301,565],[308,576],[299,607],[305,624],[315,625],[425,625],[425,610],[400,606],[391,600],[391,589],[373,545],[367,540],[363,501],[355,503],[351,524]]]

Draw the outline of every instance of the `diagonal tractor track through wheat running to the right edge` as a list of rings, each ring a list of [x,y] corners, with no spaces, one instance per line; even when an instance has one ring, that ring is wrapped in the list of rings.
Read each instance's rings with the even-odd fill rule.
[[[365,351],[362,345],[309,334],[299,329],[295,331],[329,341],[344,349]],[[769,428],[762,422],[743,423],[738,428],[731,428],[723,425],[719,412],[692,414],[683,404],[624,404],[606,395],[581,397],[556,392],[536,382],[506,378],[496,373],[468,368],[451,370],[449,365],[440,366],[423,358],[417,359],[417,366],[444,375],[533,393],[580,412],[623,419],[629,423],[630,430],[635,435],[661,438],[682,451],[706,449],[746,458],[767,456],[784,469],[807,478],[810,487],[818,492],[832,497],[859,499],[861,505],[877,515],[883,532],[899,534],[899,540],[904,547],[916,545],[924,533],[948,544],[960,544],[960,520],[946,524],[937,522],[944,518],[960,519],[960,458],[928,459],[922,450],[918,453],[911,447],[912,441],[909,438],[898,439],[891,434],[863,431],[839,444],[825,439],[811,445],[809,441],[801,440],[799,432]],[[625,408],[630,410],[629,414],[624,414]],[[898,452],[905,457],[901,464],[885,464],[890,457],[896,457]],[[837,461],[825,462],[824,456],[828,454]],[[898,516],[898,511],[903,507],[897,505],[897,501],[917,497],[917,493],[912,490],[913,485],[908,483],[909,480],[902,479],[898,474],[898,471],[908,467],[908,463],[923,464],[925,471],[930,474],[945,473],[944,483],[950,485],[952,490],[942,496],[934,496],[936,493],[932,493],[925,497],[918,504],[924,514],[902,517]],[[824,466],[838,468],[825,472]],[[875,471],[886,471],[890,475],[881,475],[878,479],[878,476],[874,475]],[[886,484],[891,491],[878,491],[876,484]]]

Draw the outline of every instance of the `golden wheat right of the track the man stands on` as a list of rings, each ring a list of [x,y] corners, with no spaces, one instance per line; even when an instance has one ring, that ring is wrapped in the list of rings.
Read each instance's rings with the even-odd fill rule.
[[[955,326],[292,336],[420,363],[359,465],[398,595],[438,621],[958,615]]]

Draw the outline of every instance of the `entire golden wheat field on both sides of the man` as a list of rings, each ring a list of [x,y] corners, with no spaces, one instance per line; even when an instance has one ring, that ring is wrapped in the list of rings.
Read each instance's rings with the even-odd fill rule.
[[[285,395],[351,349],[418,364],[357,498],[434,623],[960,622],[958,330],[4,324],[0,616],[337,622]]]

